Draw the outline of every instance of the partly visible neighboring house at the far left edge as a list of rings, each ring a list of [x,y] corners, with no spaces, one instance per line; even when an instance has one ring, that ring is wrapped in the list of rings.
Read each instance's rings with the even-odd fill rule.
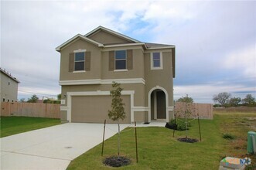
[[[18,100],[18,83],[15,77],[0,68],[0,98],[1,102],[16,102]]]

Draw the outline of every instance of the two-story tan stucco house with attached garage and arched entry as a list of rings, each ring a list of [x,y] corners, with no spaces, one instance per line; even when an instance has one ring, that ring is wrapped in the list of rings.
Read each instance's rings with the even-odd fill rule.
[[[140,42],[102,26],[56,47],[60,52],[61,120],[103,123],[111,84],[121,83],[122,123],[173,117],[175,46]]]

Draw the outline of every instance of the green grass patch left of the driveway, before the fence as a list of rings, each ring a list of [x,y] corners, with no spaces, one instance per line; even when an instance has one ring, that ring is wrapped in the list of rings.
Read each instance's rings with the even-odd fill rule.
[[[1,117],[0,137],[32,131],[39,128],[47,128],[60,124],[60,119],[41,117]]]

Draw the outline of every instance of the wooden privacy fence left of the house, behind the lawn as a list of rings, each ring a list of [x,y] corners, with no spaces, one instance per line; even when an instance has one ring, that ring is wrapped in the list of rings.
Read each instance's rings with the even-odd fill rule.
[[[1,116],[60,118],[60,104],[2,102]]]

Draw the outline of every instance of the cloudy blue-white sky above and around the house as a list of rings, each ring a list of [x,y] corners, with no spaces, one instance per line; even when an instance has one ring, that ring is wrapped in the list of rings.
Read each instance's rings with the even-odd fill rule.
[[[60,93],[56,46],[97,26],[176,46],[174,97],[256,95],[254,1],[1,1],[1,67],[19,99]]]

